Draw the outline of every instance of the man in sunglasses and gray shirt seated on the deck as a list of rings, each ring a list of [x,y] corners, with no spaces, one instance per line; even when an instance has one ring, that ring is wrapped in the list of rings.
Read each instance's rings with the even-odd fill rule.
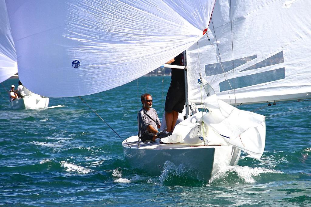
[[[142,109],[138,112],[138,136],[142,141],[152,140],[158,138],[160,132],[157,128],[161,127],[161,122],[152,106],[152,97],[150,94],[142,94],[140,97],[142,101]]]

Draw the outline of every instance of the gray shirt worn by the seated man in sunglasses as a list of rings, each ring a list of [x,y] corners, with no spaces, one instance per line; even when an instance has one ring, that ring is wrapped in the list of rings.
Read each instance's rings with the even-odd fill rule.
[[[156,122],[152,121],[150,117],[148,117],[145,113],[147,113],[150,117],[152,117]],[[160,119],[158,117],[158,114],[156,113],[156,110],[154,108],[150,108],[149,111],[144,110],[142,108],[137,115],[138,119],[138,133],[142,134],[147,130],[147,126],[151,125],[154,129],[157,129],[157,124],[161,125]]]

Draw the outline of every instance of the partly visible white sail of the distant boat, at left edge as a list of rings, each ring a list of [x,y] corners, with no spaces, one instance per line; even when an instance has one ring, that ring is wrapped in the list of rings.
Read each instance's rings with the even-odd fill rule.
[[[17,73],[16,53],[4,0],[0,0],[0,83]]]

